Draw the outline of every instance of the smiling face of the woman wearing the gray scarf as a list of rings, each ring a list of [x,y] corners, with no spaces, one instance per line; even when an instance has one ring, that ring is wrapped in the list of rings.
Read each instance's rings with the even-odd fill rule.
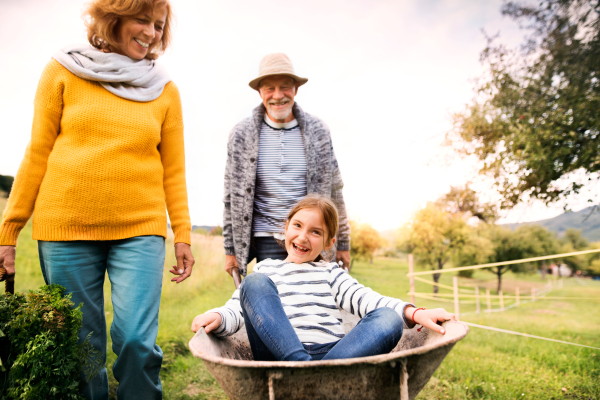
[[[124,18],[118,27],[117,53],[134,60],[145,58],[152,48],[160,45],[166,19],[166,3],[133,18]]]

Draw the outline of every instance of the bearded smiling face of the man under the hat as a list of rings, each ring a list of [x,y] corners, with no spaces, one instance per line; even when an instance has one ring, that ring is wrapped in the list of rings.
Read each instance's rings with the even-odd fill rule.
[[[294,120],[292,107],[298,85],[286,75],[268,76],[260,81],[258,93],[263,99],[269,118],[275,122],[286,123]]]

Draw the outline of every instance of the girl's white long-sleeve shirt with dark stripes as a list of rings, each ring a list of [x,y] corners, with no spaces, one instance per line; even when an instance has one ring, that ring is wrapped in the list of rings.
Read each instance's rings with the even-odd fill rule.
[[[389,307],[402,317],[405,328],[412,327],[404,316],[404,308],[412,304],[361,285],[336,263],[294,264],[268,259],[257,264],[253,273],[265,274],[275,283],[283,309],[302,343],[323,344],[343,338],[340,309],[362,318],[376,308]],[[244,325],[239,289],[223,307],[209,312],[222,317],[215,335],[236,333]]]

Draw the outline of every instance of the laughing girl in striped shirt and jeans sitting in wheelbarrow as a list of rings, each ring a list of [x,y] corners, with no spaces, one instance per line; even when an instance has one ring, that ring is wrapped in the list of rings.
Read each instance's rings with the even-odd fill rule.
[[[333,202],[309,195],[290,211],[284,261],[254,267],[223,307],[198,315],[192,331],[229,336],[246,325],[256,361],[311,361],[389,353],[404,326],[421,324],[444,334],[437,322],[456,320],[438,308],[426,310],[382,296],[359,284],[321,252],[335,243],[338,214]],[[361,318],[344,334],[340,308]]]

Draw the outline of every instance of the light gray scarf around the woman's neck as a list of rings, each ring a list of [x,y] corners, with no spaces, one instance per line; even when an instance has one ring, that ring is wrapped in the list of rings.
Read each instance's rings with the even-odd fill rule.
[[[154,61],[132,60],[121,54],[104,53],[89,45],[65,47],[52,58],[74,75],[100,82],[109,92],[128,100],[155,100],[171,81],[167,72]]]

